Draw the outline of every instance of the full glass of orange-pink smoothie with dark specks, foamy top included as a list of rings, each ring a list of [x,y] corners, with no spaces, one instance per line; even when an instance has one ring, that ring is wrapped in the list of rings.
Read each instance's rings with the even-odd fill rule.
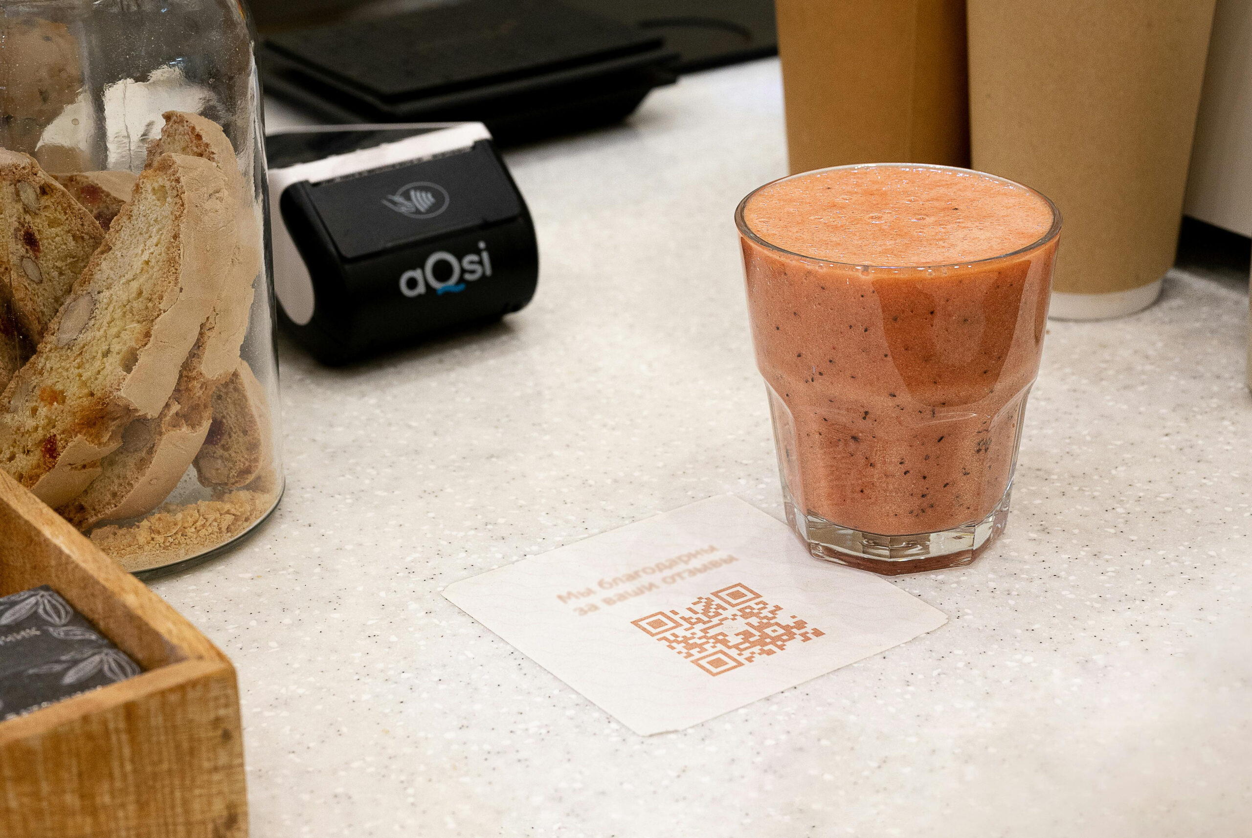
[[[735,213],[788,522],[878,573],[968,564],[1004,529],[1060,214],[968,169],[835,166]]]

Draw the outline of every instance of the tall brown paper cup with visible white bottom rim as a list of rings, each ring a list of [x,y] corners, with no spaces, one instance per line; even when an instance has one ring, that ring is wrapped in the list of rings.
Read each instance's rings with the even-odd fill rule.
[[[1050,315],[1156,301],[1173,265],[1214,0],[969,0],[973,166],[1065,219]]]

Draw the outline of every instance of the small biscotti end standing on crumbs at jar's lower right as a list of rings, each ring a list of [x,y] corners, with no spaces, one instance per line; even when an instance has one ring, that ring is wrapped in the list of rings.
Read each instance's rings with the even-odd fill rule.
[[[213,391],[213,424],[195,455],[195,473],[210,489],[240,489],[270,468],[274,454],[273,430],[265,389],[247,361]]]

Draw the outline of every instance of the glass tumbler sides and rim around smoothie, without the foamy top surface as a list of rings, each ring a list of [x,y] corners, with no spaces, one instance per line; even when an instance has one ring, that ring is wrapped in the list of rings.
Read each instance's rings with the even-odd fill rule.
[[[860,265],[793,253],[745,220],[745,208],[776,184],[884,166],[1027,190],[1050,226],[1042,221],[1038,240],[990,258],[963,259],[955,243],[945,264]],[[906,190],[898,198],[910,200]],[[815,557],[883,574],[973,562],[1008,517],[1043,349],[1055,206],[982,173],[873,164],[767,184],[735,219],[788,523]],[[800,233],[823,235],[820,218],[795,219],[813,225]]]

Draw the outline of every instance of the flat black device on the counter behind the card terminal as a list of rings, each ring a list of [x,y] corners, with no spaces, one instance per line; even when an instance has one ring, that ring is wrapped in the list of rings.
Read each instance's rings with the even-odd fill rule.
[[[555,0],[279,33],[258,56],[267,93],[331,120],[478,120],[500,143],[621,120],[676,78],[660,36]]]

